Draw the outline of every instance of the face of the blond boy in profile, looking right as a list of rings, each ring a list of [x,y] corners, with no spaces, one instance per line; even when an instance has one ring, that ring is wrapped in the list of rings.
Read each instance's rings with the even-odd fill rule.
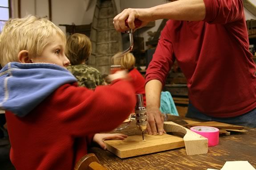
[[[67,67],[70,62],[65,55],[65,43],[61,37],[58,35],[52,36],[49,42],[40,56],[32,57],[32,62],[53,63],[61,67]]]

